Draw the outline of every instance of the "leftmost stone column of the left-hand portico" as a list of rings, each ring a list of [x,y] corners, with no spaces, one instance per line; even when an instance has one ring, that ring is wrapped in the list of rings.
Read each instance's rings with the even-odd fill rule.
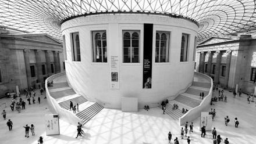
[[[28,89],[32,87],[32,77],[31,77],[31,70],[30,70],[30,62],[29,62],[29,49],[24,49],[24,60],[25,60],[25,67],[26,67],[26,74],[27,74],[27,87]]]

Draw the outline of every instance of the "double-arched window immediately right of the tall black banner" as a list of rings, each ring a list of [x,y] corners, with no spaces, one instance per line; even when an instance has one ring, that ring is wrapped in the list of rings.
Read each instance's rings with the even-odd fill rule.
[[[169,62],[169,39],[170,33],[157,31],[155,38],[155,62]]]

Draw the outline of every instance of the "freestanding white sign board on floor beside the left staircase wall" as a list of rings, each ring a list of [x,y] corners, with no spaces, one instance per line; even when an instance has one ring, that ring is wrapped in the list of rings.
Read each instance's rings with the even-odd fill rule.
[[[46,135],[59,135],[59,115],[45,114]]]

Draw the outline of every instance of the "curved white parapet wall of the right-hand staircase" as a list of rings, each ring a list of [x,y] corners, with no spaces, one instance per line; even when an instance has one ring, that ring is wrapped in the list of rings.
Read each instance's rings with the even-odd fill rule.
[[[179,118],[180,125],[183,125],[187,121],[193,121],[193,120],[195,120],[195,118],[200,117],[201,112],[206,111],[209,108],[210,104],[211,104],[212,88],[213,88],[212,78],[209,77],[208,75],[205,75],[205,74],[202,74],[202,73],[194,72],[194,74],[195,75],[200,75],[201,77],[204,77],[207,80],[209,80],[209,82],[211,82],[211,88],[209,89],[208,95],[205,96],[205,98],[202,100],[202,102],[200,103],[199,106],[194,107],[193,109],[187,111],[186,114],[184,114],[182,117]]]

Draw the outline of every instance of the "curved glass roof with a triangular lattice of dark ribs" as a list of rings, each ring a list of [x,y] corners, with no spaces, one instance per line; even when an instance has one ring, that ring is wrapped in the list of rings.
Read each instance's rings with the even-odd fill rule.
[[[255,0],[0,0],[0,27],[62,40],[61,21],[109,10],[175,13],[199,23],[198,42],[212,35],[256,34]]]

